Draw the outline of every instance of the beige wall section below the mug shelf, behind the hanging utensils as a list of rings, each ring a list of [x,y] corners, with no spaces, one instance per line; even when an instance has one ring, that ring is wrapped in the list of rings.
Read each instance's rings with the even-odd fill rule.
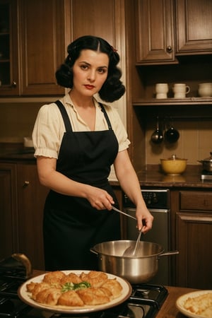
[[[146,124],[146,163],[158,164],[160,158],[170,158],[172,154],[186,158],[189,165],[199,165],[197,160],[208,158],[212,151],[212,121],[176,121],[173,126],[179,131],[177,143],[151,143],[151,134],[156,122]]]

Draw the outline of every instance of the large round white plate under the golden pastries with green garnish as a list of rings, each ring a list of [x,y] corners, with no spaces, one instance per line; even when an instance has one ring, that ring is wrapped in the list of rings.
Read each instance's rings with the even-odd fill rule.
[[[69,273],[76,273],[76,275],[80,275],[82,272],[84,273],[89,273],[89,271],[63,271],[64,273],[69,274]],[[122,285],[122,294],[118,297],[115,298],[114,300],[111,300],[110,302],[107,302],[107,304],[102,304],[102,305],[85,305],[83,307],[69,307],[69,306],[61,306],[61,305],[45,305],[45,304],[40,304],[39,302],[35,302],[32,298],[30,298],[30,293],[28,293],[26,285],[30,282],[34,283],[41,283],[42,279],[44,278],[45,274],[30,278],[28,281],[25,281],[20,288],[18,288],[18,296],[23,302],[27,303],[28,305],[35,307],[35,308],[40,308],[42,310],[50,310],[52,312],[60,312],[60,313],[84,313],[84,312],[97,312],[100,310],[106,310],[107,308],[117,306],[124,302],[129,296],[131,295],[131,285],[128,281],[125,281],[123,278],[119,276],[112,275],[110,273],[107,273],[108,278],[116,278],[117,281]]]

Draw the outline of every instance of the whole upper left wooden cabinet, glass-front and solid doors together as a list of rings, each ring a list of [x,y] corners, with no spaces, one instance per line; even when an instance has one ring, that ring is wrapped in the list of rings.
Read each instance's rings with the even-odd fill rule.
[[[61,95],[64,1],[0,0],[0,95]],[[6,25],[6,26],[5,26]]]

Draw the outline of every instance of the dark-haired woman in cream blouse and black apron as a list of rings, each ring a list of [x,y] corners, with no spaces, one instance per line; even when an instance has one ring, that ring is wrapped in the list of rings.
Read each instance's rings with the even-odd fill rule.
[[[136,204],[137,227],[151,229],[139,181],[129,160],[129,140],[113,107],[124,95],[117,68],[119,54],[100,37],[84,36],[68,47],[56,72],[57,83],[71,88],[60,101],[41,107],[33,130],[41,184],[50,189],[44,211],[46,270],[97,269],[90,247],[119,240],[118,207],[107,177],[110,167]]]

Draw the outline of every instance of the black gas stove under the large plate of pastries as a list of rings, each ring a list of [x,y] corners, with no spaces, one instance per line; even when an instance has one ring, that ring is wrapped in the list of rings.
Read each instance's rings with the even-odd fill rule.
[[[18,298],[18,287],[26,279],[24,267],[4,268],[0,262],[0,317],[153,318],[167,297],[167,289],[161,285],[132,285],[131,296],[118,306],[86,314],[59,314],[30,307]]]

